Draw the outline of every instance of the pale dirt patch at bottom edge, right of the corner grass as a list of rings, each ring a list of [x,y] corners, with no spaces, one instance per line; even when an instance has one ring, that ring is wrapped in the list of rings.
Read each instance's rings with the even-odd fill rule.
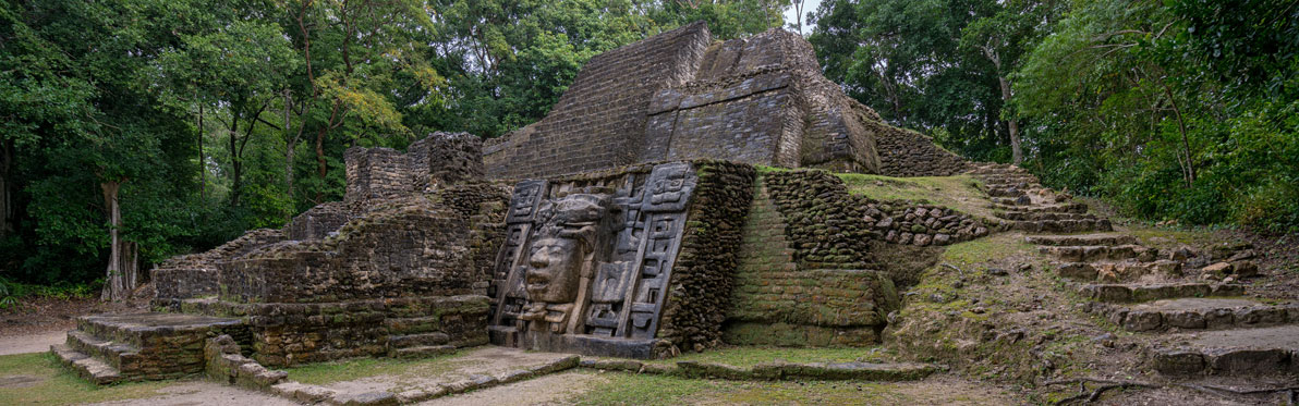
[[[166,405],[166,406],[204,406],[204,405],[259,405],[259,406],[290,406],[297,405],[294,401],[278,398],[261,392],[253,392],[248,389],[240,389],[236,387],[222,385],[214,381],[207,380],[191,380],[181,381],[175,385],[166,387],[158,392],[162,396],[151,398],[138,398],[126,401],[113,401],[104,403],[92,403],[103,406],[125,406],[125,405]]]

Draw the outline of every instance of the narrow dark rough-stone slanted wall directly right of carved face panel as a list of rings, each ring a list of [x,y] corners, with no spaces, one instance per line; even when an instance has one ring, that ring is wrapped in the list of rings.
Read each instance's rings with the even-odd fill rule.
[[[721,326],[743,245],[740,227],[757,173],[752,166],[725,161],[696,165],[699,183],[657,337],[678,350],[703,352],[722,342]]]

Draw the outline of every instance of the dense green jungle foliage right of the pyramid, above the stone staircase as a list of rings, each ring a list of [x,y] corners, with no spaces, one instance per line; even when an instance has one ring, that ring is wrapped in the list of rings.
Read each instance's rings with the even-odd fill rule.
[[[1299,231],[1299,1],[835,0],[811,19],[831,80],[950,149],[1009,162],[1017,125],[1048,185]]]

